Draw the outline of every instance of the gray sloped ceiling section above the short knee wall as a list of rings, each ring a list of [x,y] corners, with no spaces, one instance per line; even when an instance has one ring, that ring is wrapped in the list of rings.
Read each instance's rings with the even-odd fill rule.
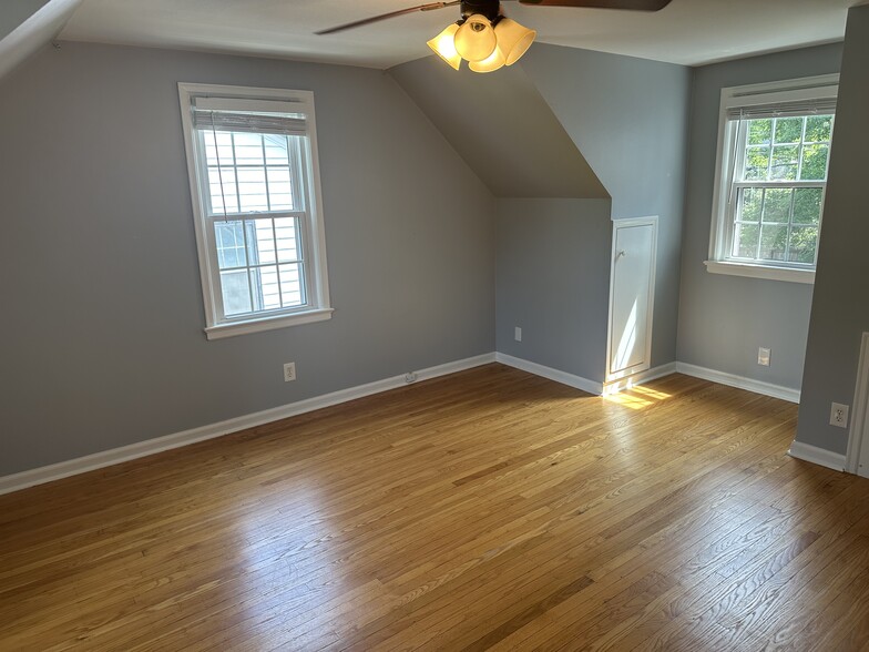
[[[478,74],[428,57],[389,74],[497,197],[610,197],[521,64]]]

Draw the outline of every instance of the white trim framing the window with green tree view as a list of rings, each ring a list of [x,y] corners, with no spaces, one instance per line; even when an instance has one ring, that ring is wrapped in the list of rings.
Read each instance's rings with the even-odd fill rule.
[[[836,92],[838,74],[824,74],[777,82],[749,84],[722,89],[718,115],[718,146],[715,160],[715,191],[713,193],[712,227],[709,228],[708,259],[704,261],[706,271],[713,274],[786,281],[791,283],[815,283],[815,267],[777,265],[775,263],[748,263],[729,261],[725,257],[728,245],[729,215],[727,197],[733,179],[734,149],[736,143],[728,137],[727,109],[733,105],[771,104],[788,100],[826,98]],[[828,161],[829,165],[829,161]],[[819,225],[820,226],[820,225]]]

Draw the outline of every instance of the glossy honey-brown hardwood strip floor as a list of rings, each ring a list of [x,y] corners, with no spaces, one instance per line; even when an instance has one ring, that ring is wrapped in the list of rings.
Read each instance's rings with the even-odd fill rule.
[[[0,650],[869,650],[794,405],[501,365],[0,497]]]

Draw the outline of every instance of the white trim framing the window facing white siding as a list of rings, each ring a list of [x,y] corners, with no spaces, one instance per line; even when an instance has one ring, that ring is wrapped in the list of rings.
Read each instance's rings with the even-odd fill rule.
[[[194,151],[193,122],[191,105],[194,98],[203,95],[226,99],[227,102],[244,103],[251,99],[277,102],[284,105],[290,103],[304,110],[308,123],[308,161],[307,170],[303,171],[308,177],[308,213],[309,223],[305,225],[309,233],[306,234],[305,252],[307,269],[307,292],[309,303],[301,309],[280,312],[275,314],[259,314],[243,319],[226,319],[218,322],[217,302],[221,300],[221,288],[214,281],[214,265],[208,233],[205,228],[206,220],[201,197],[201,171]],[[251,86],[232,86],[197,83],[178,83],[178,98],[181,102],[182,128],[184,132],[184,149],[187,157],[187,173],[190,176],[191,200],[193,204],[194,228],[196,234],[196,252],[200,263],[200,279],[202,282],[203,300],[205,308],[205,335],[208,339],[221,339],[235,335],[245,335],[288,326],[298,326],[329,319],[334,313],[329,299],[329,279],[326,264],[326,234],[323,221],[323,192],[320,189],[319,156],[317,152],[317,126],[314,112],[314,93],[310,91],[294,91],[284,89],[265,89]]]

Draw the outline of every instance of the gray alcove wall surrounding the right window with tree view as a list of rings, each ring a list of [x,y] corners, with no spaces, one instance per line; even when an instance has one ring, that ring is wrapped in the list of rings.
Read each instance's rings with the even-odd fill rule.
[[[784,387],[800,387],[811,286],[709,274],[703,264],[709,249],[720,91],[725,86],[838,72],[840,57],[841,44],[834,44],[695,69],[682,252],[679,361]],[[825,214],[822,237],[826,233]],[[760,346],[773,349],[769,367],[757,365]]]

